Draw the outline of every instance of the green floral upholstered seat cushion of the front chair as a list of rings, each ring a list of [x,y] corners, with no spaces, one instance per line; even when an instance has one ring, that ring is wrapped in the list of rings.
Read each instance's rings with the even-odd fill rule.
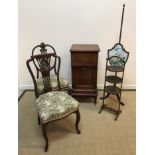
[[[63,118],[79,108],[78,101],[64,91],[52,91],[40,95],[36,104],[42,123]]]

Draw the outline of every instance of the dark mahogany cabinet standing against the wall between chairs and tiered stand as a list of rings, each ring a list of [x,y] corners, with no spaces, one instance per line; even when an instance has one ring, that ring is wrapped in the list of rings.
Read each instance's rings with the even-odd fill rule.
[[[73,44],[71,46],[71,72],[73,97],[97,99],[97,66],[99,46],[96,44]]]

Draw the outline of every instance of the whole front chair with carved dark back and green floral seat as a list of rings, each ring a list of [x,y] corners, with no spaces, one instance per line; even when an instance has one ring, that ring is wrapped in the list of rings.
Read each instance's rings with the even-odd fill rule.
[[[72,113],[75,113],[75,128],[77,133],[80,134],[80,130],[78,128],[78,124],[80,122],[79,103],[77,100],[68,95],[67,92],[60,91],[61,88],[58,78],[59,70],[56,71],[55,68],[57,59],[59,59],[59,57],[56,56],[55,53],[44,53],[34,55],[26,62],[34,83],[36,106],[38,111],[38,124],[41,124],[42,133],[46,142],[45,152],[48,150],[48,137],[46,132],[48,123],[63,119]],[[58,63],[58,66],[60,66],[60,63]],[[36,72],[41,73],[43,83],[42,92],[38,90],[36,77],[34,76],[35,70]],[[50,72],[52,71],[57,77],[59,91],[54,91],[51,87]]]

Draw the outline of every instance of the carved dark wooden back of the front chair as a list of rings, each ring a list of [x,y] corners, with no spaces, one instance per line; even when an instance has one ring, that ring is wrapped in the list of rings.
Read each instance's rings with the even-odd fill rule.
[[[57,60],[59,61],[57,62]],[[36,98],[40,94],[52,91],[50,82],[51,72],[53,72],[56,75],[58,82],[58,90],[60,90],[60,82],[59,82],[60,57],[58,57],[55,53],[43,53],[33,55],[31,56],[30,59],[26,61],[26,64],[33,79]],[[38,74],[40,74],[43,82],[44,88],[41,93],[38,91],[37,88],[37,82],[36,82],[37,77],[35,77],[35,72],[38,72]]]

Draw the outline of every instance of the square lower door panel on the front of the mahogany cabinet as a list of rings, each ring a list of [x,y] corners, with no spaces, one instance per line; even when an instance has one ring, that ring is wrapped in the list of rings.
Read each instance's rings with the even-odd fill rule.
[[[73,89],[95,89],[96,67],[72,67]]]

